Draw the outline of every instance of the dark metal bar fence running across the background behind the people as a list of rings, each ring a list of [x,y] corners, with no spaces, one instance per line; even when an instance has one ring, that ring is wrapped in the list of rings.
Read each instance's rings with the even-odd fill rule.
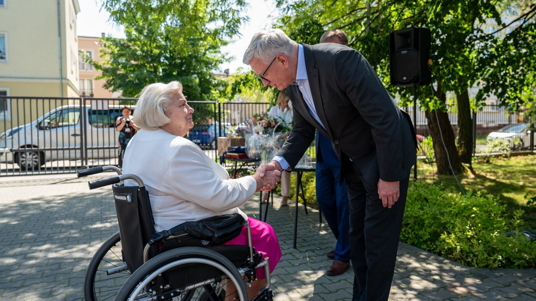
[[[66,174],[96,165],[116,165],[119,132],[115,126],[125,104],[135,116],[135,99],[0,96],[0,176]],[[270,109],[270,103],[189,104],[195,110],[195,126],[185,138],[202,147],[213,160],[218,160],[218,137],[232,134],[244,119]],[[410,116],[413,118],[411,108]],[[449,118],[456,133],[454,107],[449,108]],[[498,106],[474,112],[473,119],[477,153],[486,145],[490,132],[529,122]],[[418,133],[428,136],[423,112],[417,114],[417,125]],[[524,141],[526,149],[534,141],[529,136],[524,138],[528,140]]]

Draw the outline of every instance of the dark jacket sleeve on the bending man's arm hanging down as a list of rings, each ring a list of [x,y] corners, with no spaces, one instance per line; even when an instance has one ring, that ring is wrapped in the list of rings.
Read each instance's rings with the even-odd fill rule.
[[[353,49],[339,50],[333,68],[339,87],[371,126],[379,178],[387,182],[406,178],[401,142],[403,117],[382,81],[367,60]]]

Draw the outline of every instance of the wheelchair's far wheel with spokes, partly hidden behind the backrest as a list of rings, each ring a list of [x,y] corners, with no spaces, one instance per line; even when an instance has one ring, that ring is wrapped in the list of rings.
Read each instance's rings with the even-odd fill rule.
[[[121,238],[117,232],[99,247],[87,266],[84,279],[84,297],[87,301],[114,298],[130,277],[122,257]]]

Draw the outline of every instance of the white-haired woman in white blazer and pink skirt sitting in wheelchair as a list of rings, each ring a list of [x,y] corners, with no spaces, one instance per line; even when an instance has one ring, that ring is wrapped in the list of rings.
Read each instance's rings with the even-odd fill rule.
[[[253,246],[269,256],[272,272],[281,258],[275,232],[270,225],[251,219],[238,207],[255,192],[277,185],[279,171],[229,179],[225,168],[192,141],[183,138],[193,127],[192,114],[180,82],[146,86],[136,103],[136,125],[141,129],[126,147],[123,172],[143,179],[157,231],[205,217],[241,214],[250,224]],[[226,244],[243,244],[245,237],[244,227],[238,237]],[[264,287],[264,272],[258,270],[257,273],[262,280],[248,288],[250,296],[256,296]],[[232,299],[232,296],[227,297]]]

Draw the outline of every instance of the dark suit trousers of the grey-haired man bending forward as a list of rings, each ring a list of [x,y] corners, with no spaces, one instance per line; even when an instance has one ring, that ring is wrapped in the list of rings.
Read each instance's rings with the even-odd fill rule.
[[[347,164],[346,189],[350,210],[350,251],[354,269],[353,299],[388,300],[410,175],[400,180],[400,197],[391,208],[378,196],[378,178],[365,179]]]

